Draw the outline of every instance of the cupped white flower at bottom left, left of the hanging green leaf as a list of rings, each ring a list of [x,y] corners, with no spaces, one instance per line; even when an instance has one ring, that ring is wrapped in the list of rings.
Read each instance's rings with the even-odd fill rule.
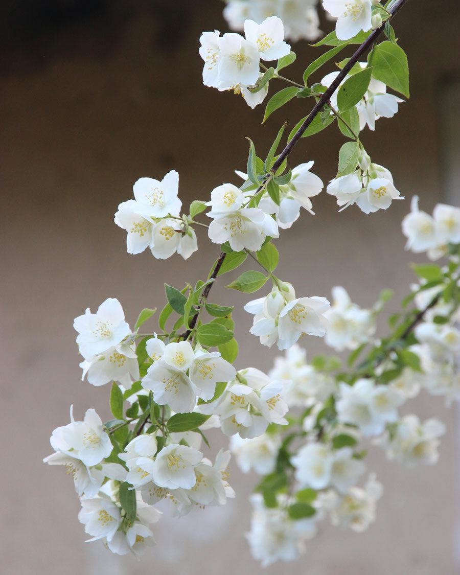
[[[85,526],[85,532],[93,535],[93,539],[88,540],[95,541],[105,537],[110,541],[120,525],[120,508],[105,497],[82,499],[81,504],[78,520]]]

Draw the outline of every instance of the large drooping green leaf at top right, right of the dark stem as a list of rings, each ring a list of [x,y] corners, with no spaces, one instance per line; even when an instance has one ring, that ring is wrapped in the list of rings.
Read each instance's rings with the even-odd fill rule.
[[[409,66],[404,50],[385,40],[369,53],[369,66],[373,77],[409,98]]]

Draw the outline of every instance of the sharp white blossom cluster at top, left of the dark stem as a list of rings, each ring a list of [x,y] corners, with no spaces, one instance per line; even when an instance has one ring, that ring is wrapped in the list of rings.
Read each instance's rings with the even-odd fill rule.
[[[283,22],[277,16],[270,16],[261,24],[246,20],[244,34],[246,38],[233,32],[220,36],[218,30],[202,33],[203,83],[219,91],[233,90],[254,108],[268,91],[268,85],[259,91],[250,90],[259,80],[260,59],[278,60],[289,54],[290,46],[283,40]]]

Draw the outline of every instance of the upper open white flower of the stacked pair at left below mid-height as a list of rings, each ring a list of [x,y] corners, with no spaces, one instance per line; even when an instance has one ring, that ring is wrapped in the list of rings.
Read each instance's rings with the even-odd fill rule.
[[[75,318],[74,329],[79,333],[78,350],[85,359],[117,346],[131,333],[120,302],[112,297],[99,305],[97,313],[86,308],[85,315]]]

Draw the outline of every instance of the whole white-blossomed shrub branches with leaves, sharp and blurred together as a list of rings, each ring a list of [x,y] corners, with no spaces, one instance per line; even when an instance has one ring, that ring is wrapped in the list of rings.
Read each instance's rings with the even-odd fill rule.
[[[323,520],[355,531],[374,521],[383,491],[365,461],[369,448],[379,447],[408,466],[437,461],[443,423],[401,415],[400,408],[422,389],[447,403],[460,397],[460,209],[438,204],[429,216],[412,200],[402,222],[407,248],[445,260],[442,266],[413,266],[418,283],[389,318],[388,336],[375,335],[388,290],[363,309],[335,286],[331,305],[324,296],[297,297],[294,286],[274,274],[279,253],[273,240],[298,220],[301,207],[314,215],[310,198],[324,187],[310,171],[313,160],[287,168],[301,137],[336,122],[347,139],[326,187],[341,209],[356,204],[370,214],[404,199],[390,171],[371,162],[360,133],[366,125],[374,131],[377,118],[397,112],[402,99],[387,93],[388,87],[409,96],[407,58],[390,24],[405,1],[382,6],[323,0],[337,18],[336,30],[317,43],[331,48],[309,64],[303,83],[279,75],[296,56],[277,15],[258,18],[260,24],[246,20],[245,38],[216,30],[202,34],[205,86],[241,93],[254,107],[271,79],[289,83],[270,98],[264,120],[294,97],[310,98],[315,106],[293,127],[280,153],[286,124],[265,159],[248,139],[247,171],[237,171],[243,183],[215,187],[206,200],[194,200],[188,214],[181,214],[174,170],[161,181],[140,178],[135,199],[118,206],[115,223],[127,231],[130,254],[149,247],[155,258],[176,252],[189,258],[198,250],[199,225],[220,246],[220,255],[208,277],[194,285],[165,284],[167,303],[151,333],[140,328],[156,309],[141,310],[132,330],[115,298],[74,321],[82,379],[95,386],[112,382],[114,419],[103,423],[88,409],[83,421],[75,421],[71,409],[70,423],[53,431],[54,453],[44,461],[66,466],[74,479],[82,505],[78,518],[89,540],[101,539],[113,553],[141,554],[154,543],[151,525],[160,520],[164,501],[174,516],[224,505],[235,496],[228,471],[233,453],[244,473],[262,476],[251,496],[247,539],[254,557],[269,565],[298,557]],[[305,9],[315,2],[307,4]],[[250,9],[249,0],[232,0],[225,10],[236,21],[243,8]],[[380,31],[387,40],[376,44]],[[339,71],[310,83],[312,74],[353,44],[358,50],[338,63]],[[366,48],[371,51],[362,62]],[[277,60],[277,66],[267,68],[261,60]],[[204,212],[208,224],[199,218]],[[285,351],[267,373],[236,366],[233,307],[209,297],[214,282],[248,257],[262,271],[246,271],[227,287],[251,294],[271,282],[268,294],[244,305],[254,316],[250,333],[262,345]],[[324,337],[336,352],[347,350],[348,358],[307,361],[298,342],[309,335]],[[229,450],[212,459],[204,454],[210,428],[230,438]]]

